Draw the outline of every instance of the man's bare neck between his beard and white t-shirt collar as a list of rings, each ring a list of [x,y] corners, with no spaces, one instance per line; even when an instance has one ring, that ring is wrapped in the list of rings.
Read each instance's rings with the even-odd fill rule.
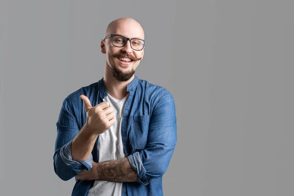
[[[109,95],[117,99],[122,99],[128,94],[126,87],[134,79],[134,77],[135,74],[127,81],[119,81],[112,75],[110,68],[106,65],[103,82]]]

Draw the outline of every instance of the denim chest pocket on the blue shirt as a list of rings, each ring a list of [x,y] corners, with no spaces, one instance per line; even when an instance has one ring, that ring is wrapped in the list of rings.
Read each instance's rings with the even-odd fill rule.
[[[147,145],[149,115],[130,116],[131,134],[130,144],[133,148],[144,149]]]

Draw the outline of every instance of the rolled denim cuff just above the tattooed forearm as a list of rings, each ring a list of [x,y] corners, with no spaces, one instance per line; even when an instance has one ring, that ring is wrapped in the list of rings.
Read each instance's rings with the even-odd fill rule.
[[[147,176],[145,175],[146,169],[143,166],[139,152],[135,152],[134,154],[127,156],[127,158],[133,169],[138,172],[138,182],[144,185],[149,184],[150,180],[148,180]]]

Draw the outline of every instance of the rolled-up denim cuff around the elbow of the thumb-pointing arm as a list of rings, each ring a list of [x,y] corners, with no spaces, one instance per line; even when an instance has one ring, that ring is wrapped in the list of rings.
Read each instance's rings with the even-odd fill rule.
[[[71,145],[72,142],[67,143],[65,146],[63,146],[60,149],[60,156],[63,160],[63,162],[67,165],[67,166],[74,166],[74,168],[80,168],[80,166],[85,166],[86,170],[91,170],[92,169],[92,161],[93,161],[93,156],[92,153],[90,154],[90,158],[86,161],[73,161],[73,157],[72,157],[72,152],[71,152]]]

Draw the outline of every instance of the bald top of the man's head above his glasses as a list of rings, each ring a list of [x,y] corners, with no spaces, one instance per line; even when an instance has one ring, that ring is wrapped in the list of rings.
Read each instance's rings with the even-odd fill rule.
[[[145,38],[142,26],[132,18],[119,18],[112,21],[107,26],[104,37],[109,34],[120,34],[125,37],[137,37],[143,40]]]

